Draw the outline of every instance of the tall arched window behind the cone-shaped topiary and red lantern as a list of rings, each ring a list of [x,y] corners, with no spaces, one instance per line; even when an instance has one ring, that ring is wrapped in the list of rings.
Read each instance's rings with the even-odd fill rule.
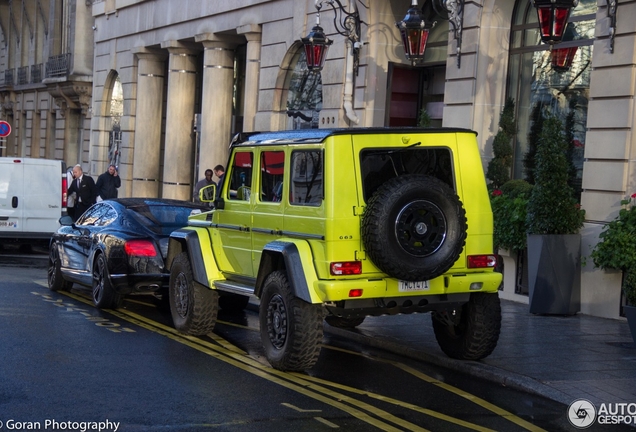
[[[531,0],[518,0],[510,32],[507,95],[515,102],[518,132],[513,178],[526,178],[524,159],[539,114],[558,115],[574,143],[572,161],[583,172],[583,147],[592,70],[596,1],[581,0],[572,11],[564,41],[542,44]],[[526,162],[527,163],[527,162]]]

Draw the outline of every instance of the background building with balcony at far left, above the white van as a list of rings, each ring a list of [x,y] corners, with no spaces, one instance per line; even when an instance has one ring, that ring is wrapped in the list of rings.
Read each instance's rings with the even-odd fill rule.
[[[88,163],[92,23],[84,2],[0,1],[0,155]]]

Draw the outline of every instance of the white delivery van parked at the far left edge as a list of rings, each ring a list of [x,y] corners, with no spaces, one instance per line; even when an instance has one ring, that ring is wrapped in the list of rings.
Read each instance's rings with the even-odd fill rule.
[[[0,157],[0,241],[49,239],[66,214],[66,164]]]

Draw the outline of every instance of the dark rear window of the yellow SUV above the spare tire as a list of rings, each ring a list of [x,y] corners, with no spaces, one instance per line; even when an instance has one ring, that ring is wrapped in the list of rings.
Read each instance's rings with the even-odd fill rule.
[[[455,190],[453,157],[450,149],[445,147],[363,150],[360,166],[365,201],[388,180],[406,174],[435,177]]]

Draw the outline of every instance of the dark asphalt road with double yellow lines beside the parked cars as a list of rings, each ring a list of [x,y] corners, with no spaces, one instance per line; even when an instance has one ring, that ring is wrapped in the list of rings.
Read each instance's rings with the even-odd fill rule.
[[[0,253],[0,430],[575,430],[565,406],[335,336],[279,372],[255,312],[195,338],[157,304],[100,311],[50,292],[45,256]]]

